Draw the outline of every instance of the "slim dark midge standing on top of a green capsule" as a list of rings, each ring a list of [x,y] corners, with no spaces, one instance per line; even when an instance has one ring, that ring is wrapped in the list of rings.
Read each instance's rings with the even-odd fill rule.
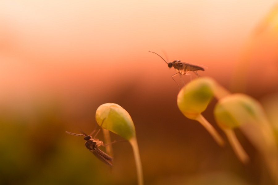
[[[149,51],[149,52],[155,53],[153,51]],[[157,53],[155,53],[155,54],[157,54]],[[160,55],[158,55],[158,56],[160,56]],[[160,56],[160,58],[162,58],[162,57]],[[162,60],[164,60],[164,59],[162,58]],[[164,62],[166,62],[166,60],[164,60]],[[186,75],[188,72],[192,71],[192,72],[196,73],[196,75],[199,77],[197,71],[199,71],[199,70],[204,71],[204,68],[202,68],[200,66],[188,64],[188,63],[185,63],[185,62],[181,62],[180,60],[174,60],[173,62],[169,62],[169,63],[166,62],[166,64],[168,64],[169,68],[174,67],[174,69],[177,71],[177,73],[175,73],[172,76],[172,78],[174,76],[176,76],[177,74],[179,74],[180,79],[181,79],[182,82],[183,82],[183,79],[182,79],[181,75]],[[176,80],[174,78],[173,78],[173,80],[176,82]],[[183,84],[184,84],[184,82],[183,82]],[[178,87],[179,87],[179,84],[178,84]]]

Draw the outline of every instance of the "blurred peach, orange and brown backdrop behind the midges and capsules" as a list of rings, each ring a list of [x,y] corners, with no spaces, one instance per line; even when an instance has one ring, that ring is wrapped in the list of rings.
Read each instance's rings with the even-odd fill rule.
[[[137,184],[128,142],[110,168],[65,133],[90,133],[108,102],[133,118],[145,184],[272,184],[239,130],[247,165],[182,115],[175,70],[148,51],[207,66],[200,76],[260,100],[278,129],[277,12],[274,0],[0,1],[0,184]],[[203,115],[225,138],[215,103]]]

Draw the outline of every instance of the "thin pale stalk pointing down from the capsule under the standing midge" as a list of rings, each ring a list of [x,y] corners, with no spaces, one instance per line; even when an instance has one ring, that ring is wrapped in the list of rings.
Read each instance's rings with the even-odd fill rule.
[[[199,116],[197,116],[195,120],[199,121],[204,126],[204,128],[209,132],[209,134],[213,137],[213,139],[217,142],[218,145],[225,145],[225,142],[220,136],[220,134],[218,134],[215,128],[202,116],[202,114],[199,114]]]

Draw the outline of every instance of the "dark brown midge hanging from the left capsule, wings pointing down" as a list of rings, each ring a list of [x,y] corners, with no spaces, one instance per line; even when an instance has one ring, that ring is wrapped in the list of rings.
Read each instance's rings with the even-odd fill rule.
[[[103,124],[103,122],[102,122],[102,124]],[[95,133],[95,130],[90,135],[87,135],[85,133],[75,134],[75,133],[71,133],[68,131],[66,131],[66,133],[76,135],[76,136],[84,136],[84,140],[86,140],[86,142],[85,142],[86,148],[89,149],[97,158],[99,158],[99,160],[101,160],[105,164],[108,164],[109,166],[112,166],[113,158],[111,156],[109,156],[108,154],[106,154],[105,152],[103,152],[102,150],[100,150],[98,147],[99,146],[107,146],[109,144],[115,143],[116,141],[103,145],[102,141],[99,141],[99,139],[95,138],[97,136],[97,134],[99,133],[100,129],[97,131],[97,133],[95,134],[94,137],[91,136],[92,134]]]

